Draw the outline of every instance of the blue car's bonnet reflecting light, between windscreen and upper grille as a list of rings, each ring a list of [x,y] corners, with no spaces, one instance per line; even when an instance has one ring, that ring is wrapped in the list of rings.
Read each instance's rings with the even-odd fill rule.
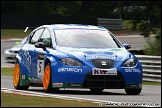
[[[125,48],[95,49],[57,47],[57,50],[66,54],[68,57],[80,60],[112,59],[115,61],[124,61],[131,57],[130,53]]]

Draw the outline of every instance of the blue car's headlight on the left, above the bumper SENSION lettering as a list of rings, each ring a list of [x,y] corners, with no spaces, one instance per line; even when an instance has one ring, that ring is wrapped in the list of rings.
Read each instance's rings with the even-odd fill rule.
[[[82,66],[82,64],[79,61],[72,58],[63,58],[60,60],[60,62],[68,66]]]

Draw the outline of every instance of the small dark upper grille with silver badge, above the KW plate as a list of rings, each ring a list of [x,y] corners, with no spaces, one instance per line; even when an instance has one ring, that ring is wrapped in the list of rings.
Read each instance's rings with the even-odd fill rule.
[[[96,68],[109,69],[114,66],[114,60],[111,59],[93,59],[93,65]]]

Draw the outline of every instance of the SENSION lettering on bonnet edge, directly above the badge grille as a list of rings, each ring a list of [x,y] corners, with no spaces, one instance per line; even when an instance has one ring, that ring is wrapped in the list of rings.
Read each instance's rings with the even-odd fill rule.
[[[118,57],[116,56],[89,56],[86,57],[87,60],[92,60],[92,59],[112,59],[112,60],[118,60]]]

